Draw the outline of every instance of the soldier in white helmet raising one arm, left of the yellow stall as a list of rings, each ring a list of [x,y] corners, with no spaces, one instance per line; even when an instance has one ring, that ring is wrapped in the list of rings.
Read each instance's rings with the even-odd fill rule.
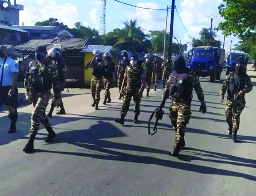
[[[103,74],[104,74],[104,61],[101,59],[101,51],[94,50],[93,51],[94,58],[91,62],[87,64],[85,69],[88,67],[93,68],[93,77],[91,81],[91,92],[93,98],[92,107],[95,106],[95,110],[99,110],[99,101],[100,101],[100,93],[101,93],[101,85],[103,82]]]

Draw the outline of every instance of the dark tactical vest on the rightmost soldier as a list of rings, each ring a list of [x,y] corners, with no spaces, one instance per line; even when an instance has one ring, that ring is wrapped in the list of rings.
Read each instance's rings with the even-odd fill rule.
[[[234,95],[244,88],[244,78],[237,76],[235,72],[230,72],[228,77],[228,98],[234,98]]]

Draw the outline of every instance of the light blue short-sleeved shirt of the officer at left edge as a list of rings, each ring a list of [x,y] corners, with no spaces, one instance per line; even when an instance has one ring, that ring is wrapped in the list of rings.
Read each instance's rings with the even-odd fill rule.
[[[2,66],[4,64],[4,59],[0,60],[0,80],[2,78]],[[19,67],[17,63],[7,56],[4,65],[4,76],[2,78],[2,86],[11,86],[12,85],[12,73],[19,72]]]

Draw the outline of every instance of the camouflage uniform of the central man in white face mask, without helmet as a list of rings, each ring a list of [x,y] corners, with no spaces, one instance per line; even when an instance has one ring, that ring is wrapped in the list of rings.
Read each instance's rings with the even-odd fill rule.
[[[139,90],[141,88],[141,78],[146,78],[143,68],[139,66],[134,69],[132,65],[128,65],[125,69],[125,74],[127,75],[127,86],[124,90],[124,104],[121,109],[121,118],[127,115],[132,97],[135,103],[134,114],[136,116],[140,114],[141,95],[139,95]]]

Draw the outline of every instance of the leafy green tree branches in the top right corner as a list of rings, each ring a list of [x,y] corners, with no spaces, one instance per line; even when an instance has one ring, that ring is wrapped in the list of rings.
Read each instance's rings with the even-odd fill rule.
[[[218,29],[225,35],[243,36],[251,34],[256,26],[256,0],[223,0],[218,9],[224,22],[219,23]]]

